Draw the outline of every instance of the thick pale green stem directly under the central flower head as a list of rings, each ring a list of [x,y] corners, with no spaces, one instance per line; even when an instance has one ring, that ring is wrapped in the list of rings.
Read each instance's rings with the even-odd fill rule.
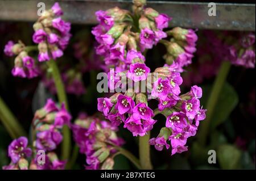
[[[139,137],[139,161],[141,162],[141,167],[143,170],[151,170],[151,160],[150,160],[150,145],[148,141],[150,139],[150,132],[147,132],[145,136]]]

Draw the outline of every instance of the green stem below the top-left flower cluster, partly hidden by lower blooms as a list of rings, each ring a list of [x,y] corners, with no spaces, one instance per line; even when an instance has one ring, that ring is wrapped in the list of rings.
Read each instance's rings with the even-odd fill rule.
[[[66,109],[68,110],[68,100],[65,92],[65,87],[63,81],[60,76],[60,71],[56,65],[54,60],[50,60],[47,62],[50,71],[52,73],[52,77],[55,82],[55,87],[57,91],[57,97],[59,99],[59,103],[64,103]],[[63,127],[63,143],[61,145],[61,158],[68,159],[71,151],[71,132],[67,125]]]

